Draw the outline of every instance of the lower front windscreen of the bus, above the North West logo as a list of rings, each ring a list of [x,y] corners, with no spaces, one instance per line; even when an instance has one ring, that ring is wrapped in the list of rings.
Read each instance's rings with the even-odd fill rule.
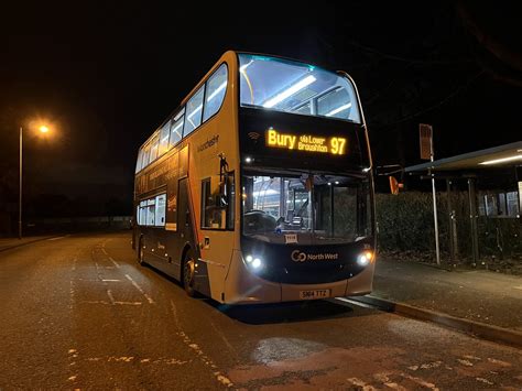
[[[306,173],[244,175],[243,235],[273,242],[347,243],[372,235],[366,178]]]

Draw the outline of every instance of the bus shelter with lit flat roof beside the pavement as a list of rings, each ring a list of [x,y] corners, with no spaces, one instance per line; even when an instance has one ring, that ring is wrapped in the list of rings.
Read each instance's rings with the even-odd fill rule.
[[[474,267],[481,256],[521,260],[522,141],[409,166],[404,171],[424,180],[435,178],[438,186],[445,182],[452,262],[458,258],[459,243],[466,240]],[[465,235],[457,229],[457,224],[463,222],[457,221],[458,189],[467,193],[469,224]],[[463,218],[464,214],[459,219]],[[485,245],[488,240],[490,245]]]

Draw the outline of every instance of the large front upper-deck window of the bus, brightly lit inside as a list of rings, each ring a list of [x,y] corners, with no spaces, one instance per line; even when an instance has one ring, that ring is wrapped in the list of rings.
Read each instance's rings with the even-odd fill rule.
[[[352,84],[333,72],[239,54],[239,78],[241,106],[361,122]]]

